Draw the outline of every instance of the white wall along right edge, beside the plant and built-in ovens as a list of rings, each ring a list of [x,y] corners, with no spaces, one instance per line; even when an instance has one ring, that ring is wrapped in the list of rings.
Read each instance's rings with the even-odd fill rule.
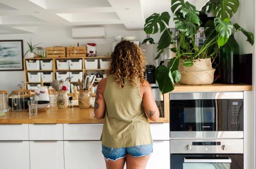
[[[237,21],[255,36],[255,1],[240,1],[240,8],[232,21]],[[244,112],[244,168],[255,168],[255,44],[251,46],[246,42],[242,33],[236,34],[236,40],[242,54],[253,53],[253,91],[245,93],[245,99],[248,101],[245,106],[247,105],[248,109]]]

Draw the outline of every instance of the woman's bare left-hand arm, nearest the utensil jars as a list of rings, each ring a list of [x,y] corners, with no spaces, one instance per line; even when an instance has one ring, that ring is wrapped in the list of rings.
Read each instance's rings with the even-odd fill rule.
[[[105,100],[103,98],[103,93],[106,86],[106,78],[100,80],[96,90],[95,102],[94,102],[94,115],[96,119],[104,119],[105,117]]]

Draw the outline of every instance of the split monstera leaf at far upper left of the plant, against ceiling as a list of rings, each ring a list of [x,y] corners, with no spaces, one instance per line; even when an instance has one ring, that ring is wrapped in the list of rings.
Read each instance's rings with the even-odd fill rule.
[[[154,13],[150,17],[146,18],[144,24],[144,31],[146,34],[155,34],[158,32],[159,26],[160,32],[162,32],[165,30],[165,24],[169,24],[169,20],[170,15],[168,12],[163,12],[161,15],[158,13]]]

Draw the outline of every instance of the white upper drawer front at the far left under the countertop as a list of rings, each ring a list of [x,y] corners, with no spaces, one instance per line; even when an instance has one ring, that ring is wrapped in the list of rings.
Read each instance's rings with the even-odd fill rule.
[[[0,140],[29,140],[28,124],[1,124]]]

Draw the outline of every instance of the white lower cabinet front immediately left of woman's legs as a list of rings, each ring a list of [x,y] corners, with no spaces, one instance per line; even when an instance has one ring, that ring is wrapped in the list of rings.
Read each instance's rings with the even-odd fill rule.
[[[65,169],[102,169],[105,168],[101,153],[101,142],[65,141]]]

